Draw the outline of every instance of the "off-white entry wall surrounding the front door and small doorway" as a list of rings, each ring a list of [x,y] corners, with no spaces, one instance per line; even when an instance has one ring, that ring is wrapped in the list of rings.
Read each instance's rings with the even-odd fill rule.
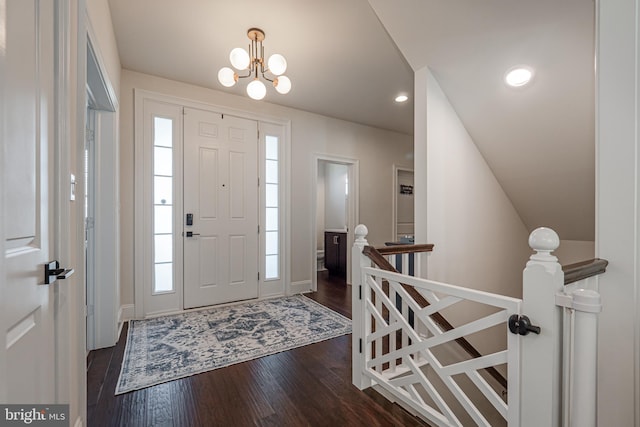
[[[212,74],[212,80],[215,74]],[[396,132],[320,116],[243,96],[188,85],[129,70],[121,74],[121,283],[122,303],[133,303],[133,89],[140,88],[194,101],[291,120],[291,281],[311,280],[316,248],[311,214],[314,154],[360,161],[360,222],[369,228],[369,242],[392,237],[391,182],[393,164],[413,167],[413,138]]]

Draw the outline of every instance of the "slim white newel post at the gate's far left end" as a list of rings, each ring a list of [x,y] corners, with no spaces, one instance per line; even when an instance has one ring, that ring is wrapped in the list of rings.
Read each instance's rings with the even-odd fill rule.
[[[367,242],[369,230],[364,224],[359,224],[355,228],[356,240],[351,250],[351,361],[353,385],[360,390],[371,387],[371,380],[362,375],[364,353],[360,353],[360,339],[364,343],[364,300],[361,299],[362,292],[362,267],[371,267],[371,261],[362,250],[369,243]],[[363,344],[364,346],[364,344]]]

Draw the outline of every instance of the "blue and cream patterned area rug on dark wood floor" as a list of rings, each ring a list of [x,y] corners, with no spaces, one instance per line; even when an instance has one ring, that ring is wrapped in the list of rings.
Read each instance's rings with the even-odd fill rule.
[[[116,394],[351,333],[351,321],[296,295],[129,322]]]

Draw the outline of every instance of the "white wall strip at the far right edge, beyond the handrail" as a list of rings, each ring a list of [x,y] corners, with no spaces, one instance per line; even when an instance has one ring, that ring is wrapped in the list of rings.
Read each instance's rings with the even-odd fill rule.
[[[599,1],[596,22],[598,425],[640,425],[638,1]]]

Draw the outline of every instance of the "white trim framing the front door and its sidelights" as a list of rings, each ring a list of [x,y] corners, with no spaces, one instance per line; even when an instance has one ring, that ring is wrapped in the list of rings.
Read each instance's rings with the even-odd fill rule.
[[[144,179],[145,179],[145,169],[143,168],[142,159],[144,159],[144,144],[143,144],[143,105],[144,101],[154,101],[160,103],[171,104],[175,106],[180,106],[184,108],[195,108],[206,111],[214,111],[218,113],[222,113],[225,115],[240,117],[249,120],[255,120],[258,122],[258,126],[260,127],[263,123],[279,125],[284,128],[284,141],[283,142],[283,169],[282,175],[283,178],[282,194],[284,195],[284,204],[281,215],[283,215],[285,221],[285,233],[284,233],[284,241],[281,243],[284,262],[283,262],[283,274],[284,280],[287,284],[285,287],[285,292],[287,294],[291,293],[291,284],[290,284],[290,271],[291,271],[291,225],[288,220],[291,212],[291,121],[288,119],[282,119],[280,117],[274,117],[266,114],[255,113],[250,111],[233,109],[221,105],[203,103],[199,101],[194,101],[186,98],[176,97],[172,95],[166,95],[158,92],[153,92],[145,89],[134,89],[134,157],[135,157],[135,172],[134,172],[134,192],[135,194],[143,194],[144,192]],[[180,158],[182,159],[182,153],[180,153]],[[263,159],[261,158],[260,161]],[[135,300],[135,318],[142,319],[145,317],[145,309],[144,309],[144,283],[145,283],[145,274],[143,266],[145,265],[144,260],[144,245],[145,245],[145,231],[144,231],[144,201],[141,197],[134,198],[134,265],[137,266],[134,271],[134,300]],[[260,211],[262,211],[263,206],[260,206]],[[178,212],[179,214],[182,211]],[[259,283],[259,298],[263,297],[262,295],[262,277],[264,277],[264,272],[261,271],[261,280]],[[181,312],[180,309],[178,312]]]

